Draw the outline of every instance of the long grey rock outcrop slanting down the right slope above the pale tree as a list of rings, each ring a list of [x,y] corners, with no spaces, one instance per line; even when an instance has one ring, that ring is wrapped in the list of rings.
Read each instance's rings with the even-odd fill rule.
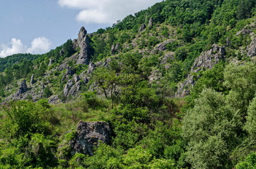
[[[204,51],[202,54],[195,59],[194,65],[190,70],[190,74],[187,75],[185,82],[178,87],[178,92],[176,96],[186,96],[190,94],[190,88],[194,86],[194,73],[198,73],[199,70],[211,69],[219,63],[219,61],[225,59],[226,51],[223,46],[219,46],[218,44],[213,44],[209,51]],[[199,77],[197,77],[199,78]]]

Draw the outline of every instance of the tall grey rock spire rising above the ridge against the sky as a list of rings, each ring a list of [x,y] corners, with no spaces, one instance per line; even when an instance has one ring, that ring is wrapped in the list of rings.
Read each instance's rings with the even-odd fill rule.
[[[80,48],[80,54],[76,63],[88,65],[90,62],[90,39],[87,35],[87,31],[84,27],[81,27],[81,30],[78,33],[77,44]]]

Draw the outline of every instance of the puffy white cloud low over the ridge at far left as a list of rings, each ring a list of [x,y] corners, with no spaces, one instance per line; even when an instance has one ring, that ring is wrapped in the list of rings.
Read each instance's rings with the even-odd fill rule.
[[[21,39],[13,38],[10,44],[1,44],[0,57],[6,57],[12,54],[30,53],[43,54],[50,50],[52,42],[46,37],[37,37],[27,47],[21,42]]]

